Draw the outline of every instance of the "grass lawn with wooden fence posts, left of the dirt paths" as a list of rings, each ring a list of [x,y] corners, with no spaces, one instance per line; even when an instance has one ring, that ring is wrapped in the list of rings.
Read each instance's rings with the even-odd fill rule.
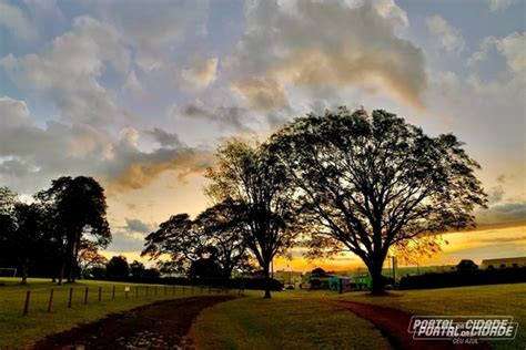
[[[49,279],[28,280],[27,286],[20,286],[20,279],[0,278],[0,349],[20,348],[43,338],[45,334],[60,332],[102,318],[111,312],[123,311],[151,303],[156,300],[169,298],[181,298],[182,287],[176,287],[175,296],[171,286],[158,286],[158,295],[154,295],[154,285],[149,285],[149,296],[145,296],[144,285],[89,281],[82,280],[72,285],[57,286]],[[102,301],[98,301],[98,289],[102,287]],[[115,299],[112,298],[112,289],[115,286]],[[130,286],[128,299],[125,299],[124,287]],[[69,290],[73,287],[72,308],[68,308]],[[88,305],[84,305],[84,289],[89,287]],[[139,287],[139,298],[135,298],[135,287]],[[48,310],[50,289],[54,289],[53,307]],[[29,315],[23,317],[23,305],[26,291],[31,290]],[[199,295],[200,289],[193,288],[193,296]],[[208,295],[208,290],[203,290]],[[185,288],[184,297],[190,297],[190,288]]]

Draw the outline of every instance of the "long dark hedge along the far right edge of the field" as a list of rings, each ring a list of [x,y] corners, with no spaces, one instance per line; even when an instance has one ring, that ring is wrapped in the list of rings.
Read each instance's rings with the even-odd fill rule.
[[[526,282],[526,268],[433,272],[403,277],[399,289],[432,289],[462,286]]]

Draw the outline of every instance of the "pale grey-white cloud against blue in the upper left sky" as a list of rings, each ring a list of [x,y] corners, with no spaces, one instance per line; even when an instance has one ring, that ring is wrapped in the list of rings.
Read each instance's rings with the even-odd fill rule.
[[[75,18],[72,30],[57,37],[49,50],[0,60],[0,66],[19,86],[51,97],[64,120],[93,125],[128,117],[98,81],[107,63],[125,72],[130,54],[111,25],[90,17]]]

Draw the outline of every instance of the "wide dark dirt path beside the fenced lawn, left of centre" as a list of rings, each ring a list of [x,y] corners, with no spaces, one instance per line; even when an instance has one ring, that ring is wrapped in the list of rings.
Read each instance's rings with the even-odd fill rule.
[[[193,349],[185,337],[204,308],[233,297],[198,297],[155,302],[51,334],[34,349]]]

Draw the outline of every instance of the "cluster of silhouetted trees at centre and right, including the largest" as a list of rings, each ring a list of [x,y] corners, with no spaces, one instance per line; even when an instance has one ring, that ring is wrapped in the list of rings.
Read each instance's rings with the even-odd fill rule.
[[[427,136],[385,111],[308,114],[262,144],[229,141],[216,157],[205,189],[213,206],[195,220],[172,216],[143,255],[180,267],[213,260],[225,278],[255,260],[265,298],[271,261],[294,245],[311,257],[355,254],[382,294],[390,250],[437,251],[439,234],[473,227],[486,205],[479,166],[454,135]]]

